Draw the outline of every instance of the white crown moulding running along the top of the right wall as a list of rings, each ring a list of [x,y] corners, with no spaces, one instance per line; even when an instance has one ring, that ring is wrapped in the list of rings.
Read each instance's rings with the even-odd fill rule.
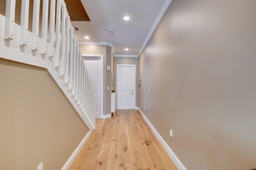
[[[158,23],[160,22],[161,18],[164,16],[164,13],[166,12],[167,8],[169,7],[170,3],[172,2],[172,0],[166,0],[162,6],[162,8],[160,9],[152,27],[150,28],[150,31],[148,32],[148,35],[144,41],[144,43],[142,44],[142,47],[140,49],[140,52],[138,53],[138,56],[140,56],[140,54],[142,53],[143,49],[146,47],[146,44],[148,43],[148,40],[150,39],[150,37],[152,36],[153,32],[156,29],[156,26],[158,25]]]

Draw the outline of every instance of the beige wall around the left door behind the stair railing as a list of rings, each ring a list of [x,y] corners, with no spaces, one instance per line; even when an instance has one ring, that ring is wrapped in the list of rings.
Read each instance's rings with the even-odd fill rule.
[[[107,65],[111,66],[111,47],[106,45],[79,45],[82,54],[103,54],[104,55],[104,85],[103,85],[103,115],[110,114],[111,102],[111,71],[107,70]],[[107,86],[110,89],[107,89]]]

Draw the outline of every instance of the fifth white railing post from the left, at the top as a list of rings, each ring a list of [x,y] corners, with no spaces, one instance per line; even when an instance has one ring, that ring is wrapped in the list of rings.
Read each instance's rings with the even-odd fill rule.
[[[48,47],[48,57],[53,57],[54,55],[54,27],[55,27],[55,0],[51,0],[50,5],[50,26],[49,26],[49,47]]]

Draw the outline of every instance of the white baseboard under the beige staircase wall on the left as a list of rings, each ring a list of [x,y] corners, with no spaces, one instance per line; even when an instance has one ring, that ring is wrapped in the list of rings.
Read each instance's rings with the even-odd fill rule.
[[[78,156],[78,154],[84,147],[84,144],[86,143],[88,138],[91,136],[91,134],[92,134],[92,131],[89,131],[85,135],[82,142],[77,146],[76,150],[73,152],[73,154],[70,156],[70,158],[68,159],[68,161],[66,162],[66,164],[63,166],[63,168],[61,170],[69,170],[70,169],[70,167],[72,166],[73,162],[75,161],[76,157]]]

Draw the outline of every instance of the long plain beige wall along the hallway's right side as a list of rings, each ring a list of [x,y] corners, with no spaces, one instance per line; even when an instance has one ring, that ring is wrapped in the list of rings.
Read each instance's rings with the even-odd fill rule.
[[[189,170],[256,168],[255,21],[255,0],[172,0],[140,55],[139,108]]]

